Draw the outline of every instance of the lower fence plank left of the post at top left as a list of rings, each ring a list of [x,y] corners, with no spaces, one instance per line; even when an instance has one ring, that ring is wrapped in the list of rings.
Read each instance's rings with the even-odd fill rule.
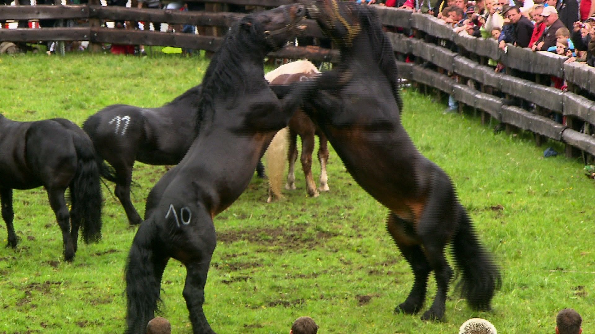
[[[89,40],[90,31],[91,30],[89,27],[0,29],[0,40],[10,40],[11,42],[39,42],[40,40]]]

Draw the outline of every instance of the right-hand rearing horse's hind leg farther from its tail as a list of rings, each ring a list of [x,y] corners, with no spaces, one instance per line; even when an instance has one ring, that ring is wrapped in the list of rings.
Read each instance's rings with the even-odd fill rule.
[[[425,294],[430,276],[431,266],[425,258],[424,251],[415,238],[413,226],[400,219],[394,213],[389,213],[386,227],[399,250],[408,261],[415,275],[415,281],[407,299],[398,305],[397,313],[416,314],[424,306]]]

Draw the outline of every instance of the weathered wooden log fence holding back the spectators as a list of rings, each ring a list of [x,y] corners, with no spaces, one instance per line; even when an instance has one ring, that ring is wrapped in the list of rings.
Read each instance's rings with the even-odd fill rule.
[[[209,4],[250,5],[258,8],[277,7],[292,0],[211,0]],[[213,7],[217,10],[221,7]],[[378,7],[384,25],[392,29],[411,31],[414,38],[401,33],[388,33],[393,49],[414,62],[397,62],[400,75],[414,81],[424,92],[450,94],[462,104],[481,113],[482,122],[496,119],[506,124],[507,131],[514,128],[531,131],[536,143],[544,139],[560,141],[566,145],[567,156],[586,153],[595,155],[595,69],[584,64],[565,64],[565,57],[549,52],[531,52],[508,45],[506,51],[498,48],[492,39],[462,36],[444,26],[436,18],[396,8]],[[134,20],[168,24],[193,24],[196,26],[227,29],[245,14],[209,11],[168,11],[123,7],[102,7],[98,0],[89,5],[55,6],[0,6],[0,20],[33,20],[45,18],[89,19],[89,27],[0,29],[0,41],[69,41],[89,40],[90,43],[121,43],[177,46],[181,48],[216,51],[220,36],[203,36],[183,33],[162,33],[148,30],[120,30],[101,27],[102,20]],[[313,23],[309,21],[309,23]],[[215,30],[213,30],[215,31]],[[308,24],[306,36],[321,37],[316,24]],[[455,45],[457,52],[444,45]],[[308,58],[313,61],[336,62],[334,50],[293,46],[271,53],[278,58]],[[506,74],[496,73],[488,59],[502,63]],[[431,66],[428,67],[428,64]],[[446,75],[456,74],[456,80]],[[524,78],[519,78],[520,74]],[[525,74],[525,75],[522,75]],[[527,80],[527,74],[533,80]],[[568,91],[554,89],[543,83],[549,77],[564,78]],[[468,84],[469,80],[473,83]],[[516,97],[534,103],[534,112],[505,105],[506,97]],[[460,104],[461,104],[460,103]],[[554,112],[565,116],[566,124],[548,118]]]

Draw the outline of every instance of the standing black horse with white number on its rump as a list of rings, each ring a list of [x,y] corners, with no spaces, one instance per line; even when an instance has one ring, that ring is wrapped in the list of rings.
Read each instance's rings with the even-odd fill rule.
[[[90,116],[83,130],[95,145],[102,177],[115,182],[115,196],[124,207],[130,225],[142,222],[130,201],[135,161],[148,165],[177,165],[184,157],[198,128],[196,106],[201,85],[192,87],[159,108],[111,105]],[[112,173],[103,161],[114,168]],[[259,163],[257,171],[264,175]]]

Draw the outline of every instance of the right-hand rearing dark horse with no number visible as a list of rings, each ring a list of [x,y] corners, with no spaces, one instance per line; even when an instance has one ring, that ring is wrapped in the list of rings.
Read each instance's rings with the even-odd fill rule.
[[[462,271],[462,294],[471,307],[489,310],[501,284],[499,269],[478,241],[448,175],[418,152],[400,122],[394,53],[374,10],[351,1],[317,0],[308,5],[308,14],[339,45],[336,70],[352,79],[340,89],[317,93],[305,111],[358,184],[390,210],[387,229],[415,274],[409,297],[396,311],[421,310],[433,271],[436,298],[422,319],[443,319],[453,277],[444,257],[449,242]]]

